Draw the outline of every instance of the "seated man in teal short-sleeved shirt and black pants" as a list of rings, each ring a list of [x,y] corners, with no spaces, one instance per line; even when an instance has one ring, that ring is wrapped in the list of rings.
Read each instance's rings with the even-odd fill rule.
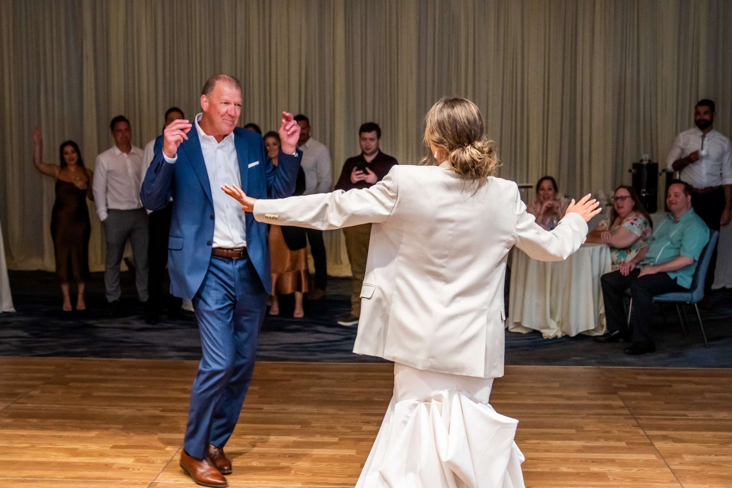
[[[623,294],[630,288],[634,311],[633,343],[624,350],[627,354],[656,350],[651,334],[653,297],[691,288],[699,256],[709,241],[709,228],[692,209],[689,184],[671,181],[666,203],[671,213],[654,230],[649,247],[641,249],[627,263],[620,263],[618,271],[600,278],[608,332],[595,339],[600,342],[631,339],[623,307]]]

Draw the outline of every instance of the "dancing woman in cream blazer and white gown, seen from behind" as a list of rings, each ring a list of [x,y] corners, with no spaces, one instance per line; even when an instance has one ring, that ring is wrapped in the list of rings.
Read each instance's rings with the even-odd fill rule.
[[[255,200],[255,219],[321,230],[372,223],[354,352],[395,362],[395,394],[357,488],[523,487],[517,421],[488,404],[504,372],[504,275],[516,246],[563,260],[596,214],[589,195],[548,232],[518,187],[496,178],[493,143],[470,101],[427,114],[438,165],[398,165],[369,189]]]

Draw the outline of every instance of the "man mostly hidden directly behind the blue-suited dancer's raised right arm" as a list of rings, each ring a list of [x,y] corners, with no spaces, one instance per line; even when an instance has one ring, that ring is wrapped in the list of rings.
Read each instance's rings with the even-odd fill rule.
[[[165,127],[172,121],[183,119],[183,110],[177,107],[165,110]],[[141,180],[145,179],[147,168],[155,154],[155,146],[163,147],[163,135],[157,136],[145,146],[143,157]],[[171,217],[173,217],[173,199],[165,206],[165,209],[147,211],[149,244],[147,247],[148,274],[147,274],[147,314],[145,322],[149,324],[160,323],[160,312],[163,306],[168,309],[168,318],[181,318],[182,299],[177,296],[168,295],[163,290],[165,275],[168,272],[165,266],[168,264],[168,235],[171,233]],[[165,296],[165,300],[163,300]],[[165,302],[165,303],[163,303]]]

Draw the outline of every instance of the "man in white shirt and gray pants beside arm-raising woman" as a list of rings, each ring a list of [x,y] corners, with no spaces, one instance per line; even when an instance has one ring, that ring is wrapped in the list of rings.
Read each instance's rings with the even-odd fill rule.
[[[138,300],[147,301],[147,214],[140,200],[142,149],[132,146],[130,121],[116,116],[109,124],[114,146],[99,156],[94,165],[94,202],[104,225],[107,258],[104,286],[109,312],[119,312],[119,264],[127,240],[135,258],[135,286]]]

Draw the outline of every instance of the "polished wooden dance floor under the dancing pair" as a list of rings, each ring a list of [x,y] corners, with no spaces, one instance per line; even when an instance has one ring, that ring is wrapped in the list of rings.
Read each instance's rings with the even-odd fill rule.
[[[639,359],[639,363],[642,359]],[[193,361],[0,357],[0,487],[182,488]],[[732,487],[732,370],[507,367],[526,487]],[[387,364],[258,363],[230,486],[353,487]]]

